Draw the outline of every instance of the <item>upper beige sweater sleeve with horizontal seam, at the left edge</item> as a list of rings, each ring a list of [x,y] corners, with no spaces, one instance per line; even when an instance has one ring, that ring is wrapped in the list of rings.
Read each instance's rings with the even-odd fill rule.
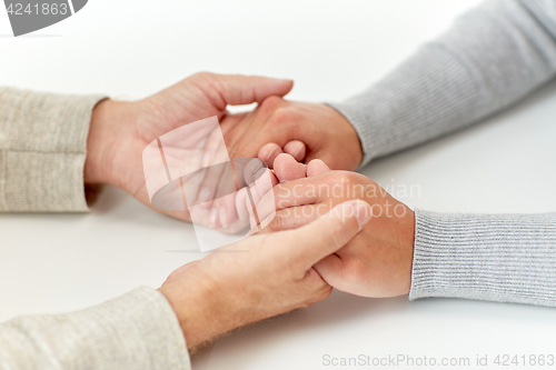
[[[83,164],[102,96],[0,89],[0,211],[87,211]]]

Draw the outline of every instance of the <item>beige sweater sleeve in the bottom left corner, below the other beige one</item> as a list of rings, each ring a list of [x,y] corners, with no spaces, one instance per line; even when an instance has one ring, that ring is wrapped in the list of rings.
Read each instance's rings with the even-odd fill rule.
[[[86,310],[0,324],[0,369],[190,370],[170,303],[155,289]]]

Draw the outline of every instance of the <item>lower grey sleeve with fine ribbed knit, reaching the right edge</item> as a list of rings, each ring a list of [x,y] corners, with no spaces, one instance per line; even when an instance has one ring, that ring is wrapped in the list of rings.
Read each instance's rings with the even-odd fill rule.
[[[415,212],[409,299],[556,307],[556,213]]]

